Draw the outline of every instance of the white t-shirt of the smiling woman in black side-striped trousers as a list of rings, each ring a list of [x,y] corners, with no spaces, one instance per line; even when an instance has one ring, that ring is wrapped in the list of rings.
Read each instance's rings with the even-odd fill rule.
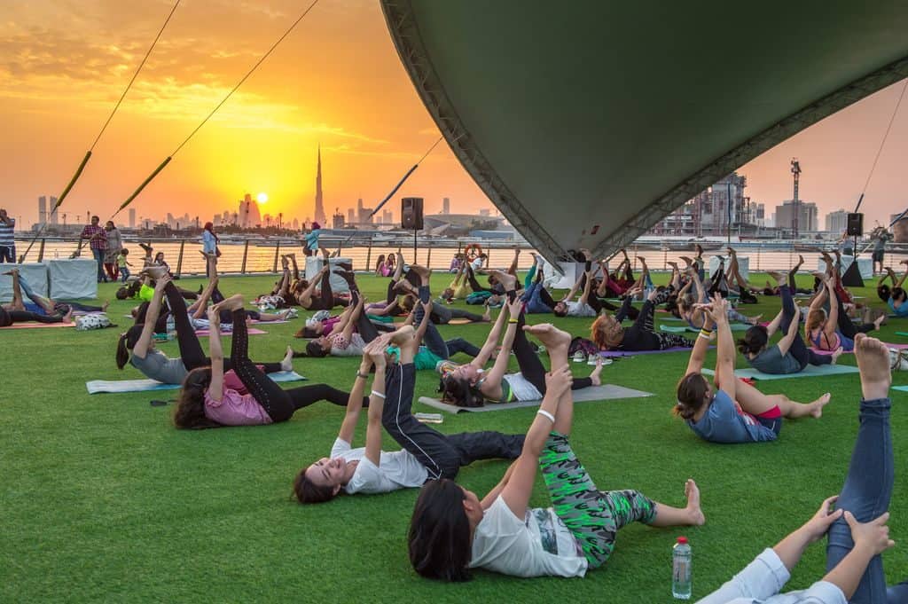
[[[381,451],[379,465],[366,458],[365,447],[351,449],[350,443],[337,439],[331,447],[331,459],[359,461],[350,482],[343,490],[348,494],[387,493],[390,490],[421,487],[429,478],[426,467],[410,451]]]

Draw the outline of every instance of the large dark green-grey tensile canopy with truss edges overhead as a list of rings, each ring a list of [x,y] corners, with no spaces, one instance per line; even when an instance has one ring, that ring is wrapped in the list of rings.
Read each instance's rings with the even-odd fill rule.
[[[549,260],[597,254],[908,77],[908,4],[381,0],[429,113]]]

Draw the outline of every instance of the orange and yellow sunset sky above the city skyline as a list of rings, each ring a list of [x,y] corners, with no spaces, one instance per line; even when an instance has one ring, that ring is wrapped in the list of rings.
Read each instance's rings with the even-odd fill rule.
[[[309,2],[183,0],[60,212],[104,219],[172,153]],[[13,0],[0,23],[0,207],[37,220],[37,196],[56,195],[104,123],[173,0]],[[801,161],[801,198],[851,209],[902,84],[816,124],[741,170],[767,213],[791,197],[788,162]],[[439,136],[391,43],[375,0],[321,0],[274,54],[133,203],[139,215],[189,212],[208,220],[243,193],[265,192],[262,213],[302,220],[313,207],[321,144],[325,209],[385,196]],[[865,224],[908,206],[908,101],[896,116],[863,210]],[[427,212],[490,207],[445,144],[396,198]],[[398,204],[392,203],[397,217]],[[121,214],[125,220],[125,213]],[[80,219],[81,220],[81,219]],[[68,222],[74,222],[71,218]]]

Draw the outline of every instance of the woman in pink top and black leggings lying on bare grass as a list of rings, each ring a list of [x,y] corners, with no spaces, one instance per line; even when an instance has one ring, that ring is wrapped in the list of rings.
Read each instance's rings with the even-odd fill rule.
[[[222,310],[233,313],[232,371],[224,372],[221,348]],[[349,392],[327,384],[311,384],[283,390],[249,360],[249,335],[242,296],[235,295],[208,310],[211,322],[209,338],[211,367],[189,372],[173,423],[177,428],[216,428],[220,426],[258,426],[289,420],[295,411],[315,401],[331,401],[344,407]],[[368,402],[365,404],[368,405]]]

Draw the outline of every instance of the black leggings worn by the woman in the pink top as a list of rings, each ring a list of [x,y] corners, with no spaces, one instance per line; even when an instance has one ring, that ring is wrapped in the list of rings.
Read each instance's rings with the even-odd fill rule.
[[[271,381],[255,363],[249,360],[249,334],[246,333],[246,312],[242,309],[233,311],[233,338],[231,343],[231,356],[233,359],[233,372],[242,381],[242,385],[252,394],[268,417],[275,423],[291,419],[293,413],[303,407],[308,407],[316,401],[331,401],[335,405],[345,407],[350,399],[350,392],[339,391],[328,384],[311,384],[300,388],[284,390],[274,381]],[[366,406],[368,399],[363,401]]]

